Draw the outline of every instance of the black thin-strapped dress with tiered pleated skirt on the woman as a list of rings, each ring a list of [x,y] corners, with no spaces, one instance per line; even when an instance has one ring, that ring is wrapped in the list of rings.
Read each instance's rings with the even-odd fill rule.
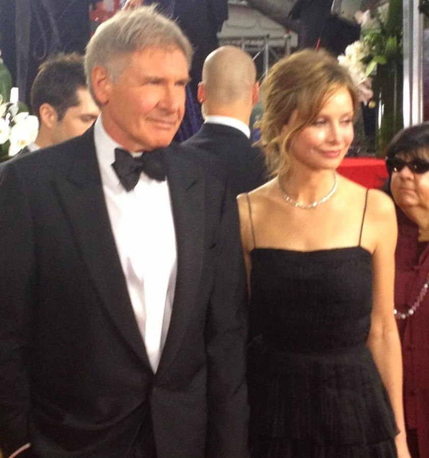
[[[252,457],[396,456],[393,412],[366,347],[371,254],[357,246],[251,256]]]

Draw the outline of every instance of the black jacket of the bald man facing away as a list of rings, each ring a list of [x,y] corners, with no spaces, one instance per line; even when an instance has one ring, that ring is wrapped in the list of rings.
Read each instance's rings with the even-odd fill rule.
[[[182,146],[194,149],[209,168],[226,179],[234,196],[248,192],[266,181],[262,152],[234,127],[205,123]]]

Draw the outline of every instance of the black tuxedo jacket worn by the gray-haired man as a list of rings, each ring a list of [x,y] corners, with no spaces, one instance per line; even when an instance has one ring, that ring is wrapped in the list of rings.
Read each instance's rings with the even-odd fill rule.
[[[0,448],[42,457],[247,456],[245,274],[235,202],[166,151],[177,240],[152,373],[106,210],[93,129],[0,168]],[[150,217],[150,215],[148,215]]]

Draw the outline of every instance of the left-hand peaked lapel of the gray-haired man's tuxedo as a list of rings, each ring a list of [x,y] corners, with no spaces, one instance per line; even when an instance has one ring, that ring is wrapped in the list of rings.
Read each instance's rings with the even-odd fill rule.
[[[75,145],[69,173],[59,177],[56,186],[103,304],[128,345],[150,367],[104,201],[92,129]]]

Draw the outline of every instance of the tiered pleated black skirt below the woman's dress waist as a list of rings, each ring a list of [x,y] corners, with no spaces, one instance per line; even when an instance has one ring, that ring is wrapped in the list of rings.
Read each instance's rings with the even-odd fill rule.
[[[249,350],[252,458],[392,458],[397,428],[364,346],[287,353]]]

